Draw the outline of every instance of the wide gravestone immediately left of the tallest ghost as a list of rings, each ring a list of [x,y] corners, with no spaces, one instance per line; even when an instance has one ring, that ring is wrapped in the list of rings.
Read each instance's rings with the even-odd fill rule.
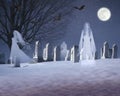
[[[79,62],[78,53],[79,53],[79,47],[78,46],[73,46],[71,48],[71,55],[70,55],[71,58],[70,58],[70,61]]]

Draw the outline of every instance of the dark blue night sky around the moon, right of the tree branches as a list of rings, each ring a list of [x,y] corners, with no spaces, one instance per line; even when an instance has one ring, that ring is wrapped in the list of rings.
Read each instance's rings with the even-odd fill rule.
[[[108,41],[110,48],[115,43],[120,49],[120,0],[78,0],[76,6],[85,5],[82,11],[74,10],[67,26],[67,34],[64,39],[69,47],[78,45],[81,30],[85,22],[89,22],[93,31],[97,51]],[[111,11],[108,21],[100,21],[97,11],[101,7],[107,7]],[[118,51],[120,57],[120,51]]]

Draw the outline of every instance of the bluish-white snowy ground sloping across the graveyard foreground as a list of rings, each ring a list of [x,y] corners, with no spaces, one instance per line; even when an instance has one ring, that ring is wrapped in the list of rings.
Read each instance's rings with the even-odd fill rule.
[[[0,65],[0,96],[120,96],[120,59]]]

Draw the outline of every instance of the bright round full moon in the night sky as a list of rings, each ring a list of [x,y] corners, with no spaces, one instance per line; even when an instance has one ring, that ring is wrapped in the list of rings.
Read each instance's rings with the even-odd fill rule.
[[[108,8],[102,7],[98,10],[97,16],[101,21],[108,21],[111,17],[111,12]]]

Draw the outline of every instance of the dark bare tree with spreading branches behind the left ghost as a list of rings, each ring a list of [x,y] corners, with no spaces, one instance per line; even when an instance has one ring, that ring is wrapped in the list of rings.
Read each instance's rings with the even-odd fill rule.
[[[63,35],[60,31],[73,0],[0,0],[0,39],[11,48],[13,30],[27,42],[50,40]],[[60,26],[58,26],[60,25]]]

